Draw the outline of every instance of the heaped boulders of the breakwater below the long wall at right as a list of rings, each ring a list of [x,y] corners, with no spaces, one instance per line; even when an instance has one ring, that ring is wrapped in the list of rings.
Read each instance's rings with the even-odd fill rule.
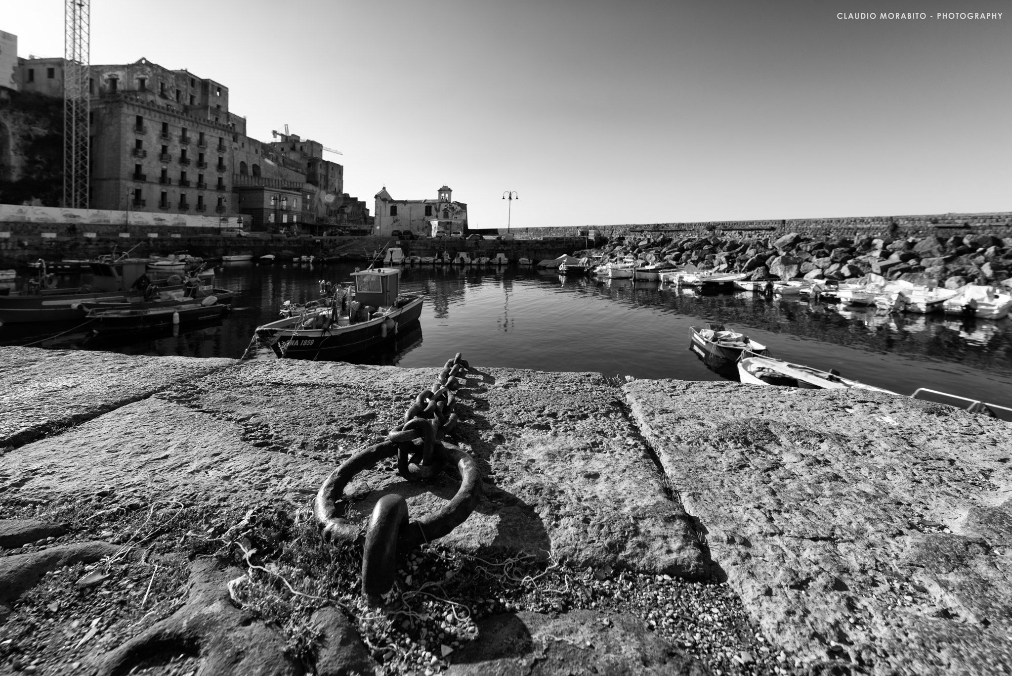
[[[848,280],[877,273],[891,280],[957,289],[1006,283],[1012,277],[1012,237],[988,234],[892,239],[819,238],[787,233],[770,237],[619,237],[588,253],[636,255],[749,273],[748,279]]]

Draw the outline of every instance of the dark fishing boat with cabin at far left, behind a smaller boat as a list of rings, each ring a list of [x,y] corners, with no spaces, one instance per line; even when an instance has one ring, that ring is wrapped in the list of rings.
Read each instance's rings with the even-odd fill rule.
[[[48,273],[45,267],[40,268],[37,277],[25,282],[24,289],[0,295],[0,323],[83,319],[83,302],[124,302],[128,297],[142,293],[141,288],[148,281],[145,273],[147,265],[147,258],[93,260],[88,264],[91,284],[64,289],[56,286],[55,275]],[[174,277],[150,283],[159,291],[183,289],[186,281],[181,275]],[[199,282],[197,286],[202,288]]]

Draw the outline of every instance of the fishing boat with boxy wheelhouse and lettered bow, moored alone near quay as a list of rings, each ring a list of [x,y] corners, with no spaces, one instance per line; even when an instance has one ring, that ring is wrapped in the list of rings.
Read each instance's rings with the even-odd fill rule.
[[[340,359],[393,339],[422,312],[423,296],[401,294],[401,271],[376,268],[353,273],[354,300],[336,298],[303,314],[258,326],[247,355],[256,346],[270,348],[278,357]]]

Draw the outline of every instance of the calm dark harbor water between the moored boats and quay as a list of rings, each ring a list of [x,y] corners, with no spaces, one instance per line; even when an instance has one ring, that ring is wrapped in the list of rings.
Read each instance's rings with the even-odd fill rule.
[[[283,301],[318,298],[320,280],[350,284],[354,270],[353,264],[220,267],[215,286],[240,293],[232,312],[214,324],[113,339],[93,336],[86,325],[8,325],[0,328],[0,345],[239,358],[253,329],[276,319]],[[73,282],[61,280],[61,286]],[[927,387],[1012,406],[1008,318],[967,322],[874,308],[848,311],[808,300],[702,295],[657,282],[569,278],[516,266],[407,267],[401,290],[427,295],[418,326],[349,361],[434,367],[460,352],[486,367],[723,380],[688,350],[690,326],[721,322],[765,344],[778,359],[837,369],[903,394]],[[64,332],[38,343],[58,331]],[[253,358],[277,359],[267,350]]]

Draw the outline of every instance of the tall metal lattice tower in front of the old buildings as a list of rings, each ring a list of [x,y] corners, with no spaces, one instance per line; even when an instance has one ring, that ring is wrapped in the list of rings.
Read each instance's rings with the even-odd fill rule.
[[[64,207],[88,208],[91,0],[65,0]]]

